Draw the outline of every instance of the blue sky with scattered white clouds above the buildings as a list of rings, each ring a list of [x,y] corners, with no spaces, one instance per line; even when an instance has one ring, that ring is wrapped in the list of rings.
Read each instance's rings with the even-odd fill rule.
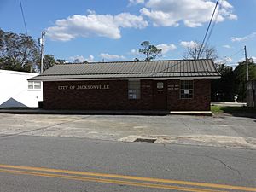
[[[45,54],[67,61],[143,59],[140,44],[162,49],[158,60],[183,59],[184,50],[202,41],[215,0],[21,0],[28,35],[41,37]],[[218,61],[236,66],[256,60],[256,0],[220,0],[208,44]],[[26,33],[19,0],[0,0],[0,28]]]

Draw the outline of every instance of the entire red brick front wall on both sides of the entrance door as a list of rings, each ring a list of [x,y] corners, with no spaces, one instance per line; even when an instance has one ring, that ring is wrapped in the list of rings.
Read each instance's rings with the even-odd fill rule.
[[[172,85],[179,84],[179,79],[167,80],[168,110],[210,110],[209,79],[194,80],[194,98],[180,99],[179,89],[172,90]],[[108,84],[108,90],[71,90],[70,86]],[[68,86],[59,90],[58,86]],[[109,81],[62,81],[44,82],[45,109],[84,109],[84,110],[148,110],[154,108],[153,80],[141,80],[141,99],[128,99],[127,80]]]

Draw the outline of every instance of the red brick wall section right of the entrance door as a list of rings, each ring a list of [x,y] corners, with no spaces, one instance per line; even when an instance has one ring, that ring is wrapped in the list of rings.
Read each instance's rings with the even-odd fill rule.
[[[178,89],[172,88],[178,85]],[[168,80],[167,108],[172,111],[208,111],[211,102],[211,80],[194,79],[194,97],[181,99],[179,90],[180,80]]]

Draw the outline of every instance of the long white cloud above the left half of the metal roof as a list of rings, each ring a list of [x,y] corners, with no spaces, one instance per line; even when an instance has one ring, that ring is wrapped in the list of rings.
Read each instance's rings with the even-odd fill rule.
[[[92,10],[87,11],[89,15],[72,15],[67,19],[56,20],[55,26],[47,28],[47,35],[60,41],[91,36],[118,39],[121,38],[120,28],[143,29],[148,26],[148,22],[141,15],[96,15]]]

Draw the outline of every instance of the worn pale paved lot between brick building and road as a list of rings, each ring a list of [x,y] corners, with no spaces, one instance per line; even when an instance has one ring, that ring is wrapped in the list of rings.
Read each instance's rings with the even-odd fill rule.
[[[0,114],[0,137],[84,137],[122,142],[137,138],[230,148],[256,148],[256,119],[218,115],[130,116]]]

